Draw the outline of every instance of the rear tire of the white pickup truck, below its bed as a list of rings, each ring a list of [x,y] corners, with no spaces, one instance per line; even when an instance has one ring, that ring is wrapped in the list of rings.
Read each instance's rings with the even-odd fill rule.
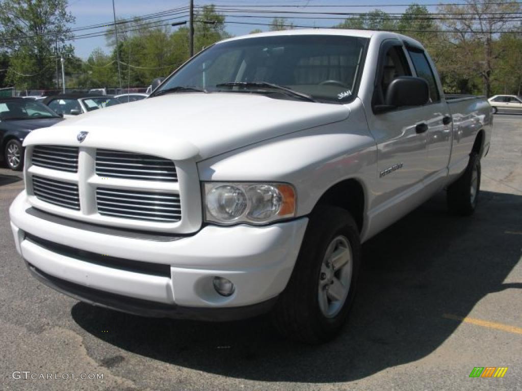
[[[448,187],[447,201],[451,212],[462,216],[473,214],[480,192],[480,172],[479,155],[472,152],[464,174]]]

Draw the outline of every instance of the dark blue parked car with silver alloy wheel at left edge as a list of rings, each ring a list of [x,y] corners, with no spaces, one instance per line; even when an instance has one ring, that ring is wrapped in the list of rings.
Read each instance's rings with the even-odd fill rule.
[[[47,128],[63,118],[49,107],[22,97],[0,98],[0,158],[10,169],[23,167],[23,140],[34,129]]]

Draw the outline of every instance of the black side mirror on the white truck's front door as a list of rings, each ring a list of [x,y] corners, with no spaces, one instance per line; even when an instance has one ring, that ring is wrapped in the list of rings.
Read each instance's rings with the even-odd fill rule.
[[[401,76],[388,86],[385,104],[387,106],[422,106],[430,100],[430,87],[419,77]]]

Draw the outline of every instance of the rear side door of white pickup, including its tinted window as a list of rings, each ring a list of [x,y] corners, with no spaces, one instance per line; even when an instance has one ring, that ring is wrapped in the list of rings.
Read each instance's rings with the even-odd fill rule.
[[[452,149],[452,117],[446,101],[442,99],[442,85],[429,55],[421,47],[415,46],[407,46],[407,52],[413,65],[414,76],[426,80],[430,87],[430,101],[422,107],[422,120],[428,126],[428,158],[423,167],[425,185],[436,187],[443,184],[447,175]]]

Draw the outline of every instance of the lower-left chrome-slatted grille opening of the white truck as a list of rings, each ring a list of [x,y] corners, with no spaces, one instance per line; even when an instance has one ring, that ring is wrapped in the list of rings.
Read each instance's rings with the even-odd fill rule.
[[[39,200],[68,209],[80,210],[78,185],[33,175],[32,186],[34,195]]]

